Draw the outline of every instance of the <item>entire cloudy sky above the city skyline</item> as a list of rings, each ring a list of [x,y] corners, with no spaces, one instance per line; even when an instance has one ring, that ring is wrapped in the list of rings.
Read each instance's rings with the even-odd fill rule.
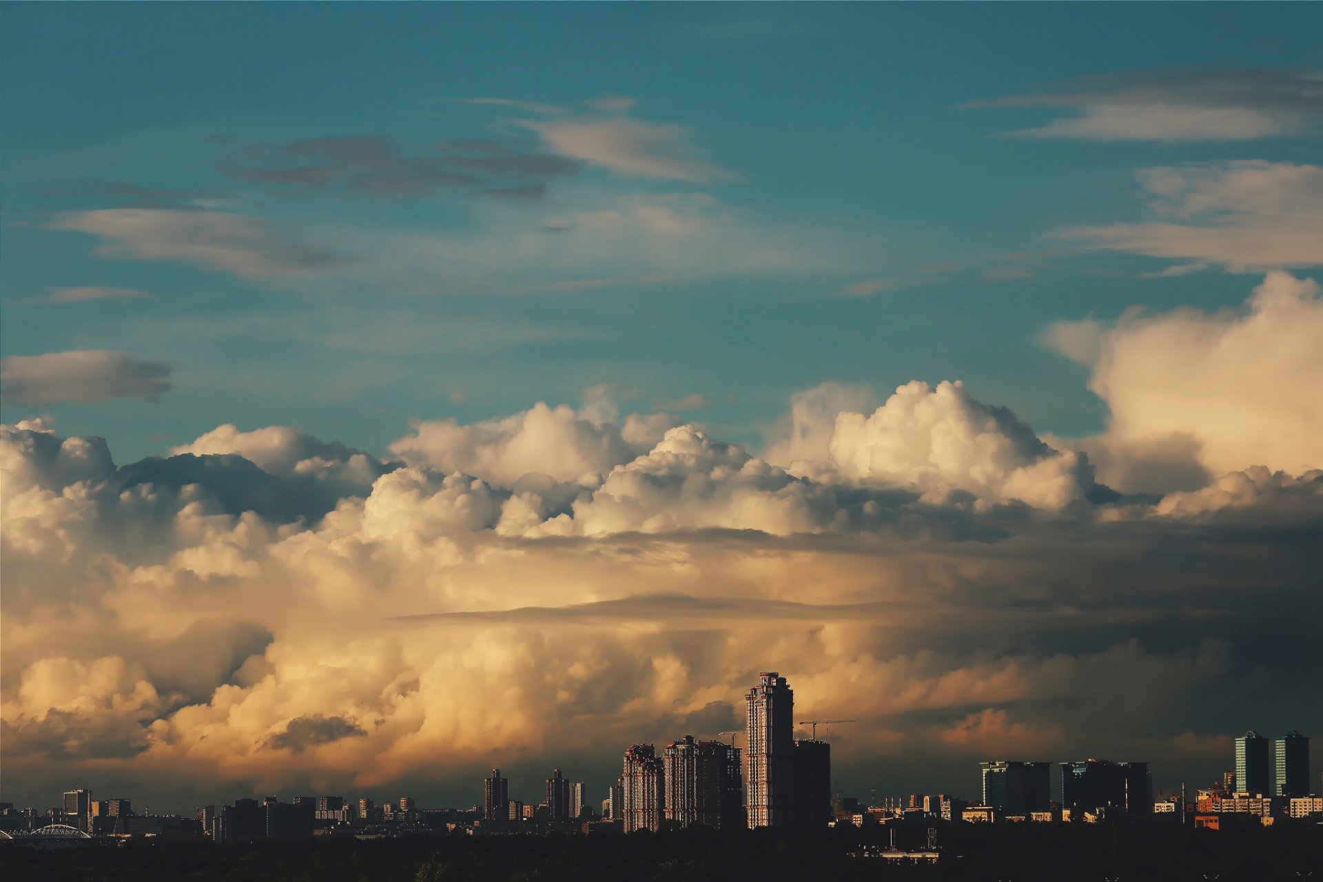
[[[1323,731],[1316,4],[0,25],[5,800]]]

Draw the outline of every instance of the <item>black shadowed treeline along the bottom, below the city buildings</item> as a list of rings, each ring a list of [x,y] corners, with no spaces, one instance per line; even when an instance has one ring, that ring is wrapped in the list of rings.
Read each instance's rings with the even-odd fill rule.
[[[935,824],[937,865],[853,858],[889,830],[687,830],[623,836],[319,837],[216,846],[134,842],[41,852],[8,845],[5,878],[42,882],[635,882],[766,879],[1080,879],[1204,882],[1323,878],[1323,826],[1242,830],[1084,824]],[[897,829],[898,848],[922,848],[927,825]]]

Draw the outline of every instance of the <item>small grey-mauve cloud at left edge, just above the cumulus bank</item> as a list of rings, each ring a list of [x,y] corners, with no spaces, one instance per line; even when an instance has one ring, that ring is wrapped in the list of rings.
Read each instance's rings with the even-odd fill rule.
[[[160,401],[169,391],[171,366],[127,352],[75,349],[0,360],[0,386],[11,402],[94,403],[112,398]]]

